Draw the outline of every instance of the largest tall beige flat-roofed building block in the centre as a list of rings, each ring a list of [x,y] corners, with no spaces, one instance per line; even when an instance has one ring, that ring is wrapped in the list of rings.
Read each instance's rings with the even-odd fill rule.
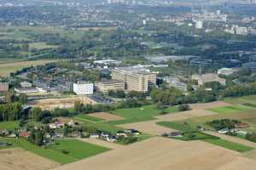
[[[156,73],[142,66],[119,67],[112,71],[112,79],[125,82],[128,91],[147,92],[156,83]]]

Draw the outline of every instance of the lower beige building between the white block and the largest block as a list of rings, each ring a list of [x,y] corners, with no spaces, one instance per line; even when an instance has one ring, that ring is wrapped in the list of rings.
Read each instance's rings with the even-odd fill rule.
[[[125,82],[119,80],[104,80],[95,83],[96,89],[107,93],[110,90],[125,90]]]

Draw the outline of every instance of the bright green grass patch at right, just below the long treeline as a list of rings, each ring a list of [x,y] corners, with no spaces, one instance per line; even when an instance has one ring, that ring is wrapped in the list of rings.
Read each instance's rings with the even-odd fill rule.
[[[209,111],[214,111],[219,114],[237,113],[237,112],[242,112],[247,110],[248,108],[243,105],[231,105],[231,106],[216,107],[216,108],[209,109]]]

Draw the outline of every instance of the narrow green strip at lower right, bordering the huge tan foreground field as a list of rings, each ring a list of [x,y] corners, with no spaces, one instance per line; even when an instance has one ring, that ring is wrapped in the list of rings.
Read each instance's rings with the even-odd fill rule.
[[[243,145],[243,144],[236,144],[234,142],[230,142],[228,140],[224,139],[203,139],[203,141],[210,143],[210,144],[215,144],[221,147],[224,147],[228,150],[235,150],[238,152],[246,152],[249,150],[253,150],[254,148]]]

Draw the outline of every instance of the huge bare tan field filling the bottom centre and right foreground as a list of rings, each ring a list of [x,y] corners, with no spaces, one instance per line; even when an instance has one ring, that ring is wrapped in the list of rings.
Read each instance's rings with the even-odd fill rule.
[[[53,170],[236,170],[236,165],[253,170],[256,161],[201,141],[155,137]]]

